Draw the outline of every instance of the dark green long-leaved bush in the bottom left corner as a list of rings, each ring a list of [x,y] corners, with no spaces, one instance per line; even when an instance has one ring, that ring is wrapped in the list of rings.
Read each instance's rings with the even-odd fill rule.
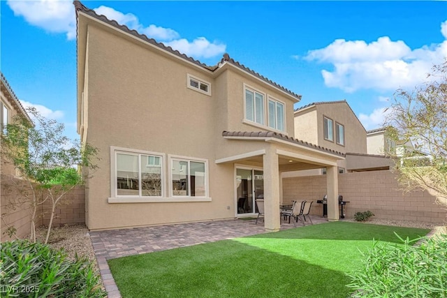
[[[105,297],[87,258],[27,240],[1,244],[0,290],[6,297]]]

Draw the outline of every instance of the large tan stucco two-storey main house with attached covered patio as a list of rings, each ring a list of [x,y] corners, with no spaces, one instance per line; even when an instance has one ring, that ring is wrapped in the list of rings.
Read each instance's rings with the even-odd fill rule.
[[[339,219],[344,154],[294,138],[298,94],[228,54],[206,66],[75,1],[78,133],[100,150],[86,187],[91,230],[256,214],[279,230],[281,172],[326,167]]]

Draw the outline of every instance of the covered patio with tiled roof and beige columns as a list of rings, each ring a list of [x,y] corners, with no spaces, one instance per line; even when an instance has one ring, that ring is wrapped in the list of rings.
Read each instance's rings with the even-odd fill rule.
[[[344,159],[344,154],[295,140],[281,133],[224,131],[222,135],[228,140],[227,146],[222,149],[222,155],[226,155],[217,158],[215,163],[233,164],[235,169],[246,166],[263,170],[266,232],[280,229],[280,204],[283,203],[281,174],[288,171],[326,167],[328,221],[339,220],[337,160]],[[235,206],[237,207],[236,198]]]

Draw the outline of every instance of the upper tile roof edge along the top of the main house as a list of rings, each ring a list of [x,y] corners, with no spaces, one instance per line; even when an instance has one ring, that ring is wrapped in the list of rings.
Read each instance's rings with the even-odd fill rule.
[[[202,62],[200,62],[196,59],[193,59],[192,57],[189,57],[186,54],[179,52],[178,50],[174,50],[170,46],[166,46],[163,43],[157,42],[156,40],[154,40],[154,38],[148,38],[144,34],[138,33],[138,31],[136,31],[135,29],[129,29],[129,27],[127,27],[126,25],[119,24],[115,20],[109,20],[108,17],[106,17],[105,15],[98,15],[94,10],[87,8],[78,0],[73,1],[73,5],[75,6],[75,11],[76,11],[76,22],[78,22],[78,12],[82,11],[82,13],[85,13],[91,17],[94,17],[96,20],[100,20],[102,22],[105,22],[106,24],[110,24],[112,27],[115,27],[119,30],[126,32],[126,33],[130,33],[131,35],[133,35],[137,38],[140,38],[141,40],[144,40],[147,43],[150,43],[152,45],[155,45],[156,47],[159,47],[161,50],[170,52],[170,54],[174,54],[175,56],[177,56],[181,59],[184,59],[186,61],[189,61],[193,64],[196,64],[197,66],[201,66],[207,70],[214,72],[215,70],[219,69],[221,67],[221,65],[224,63],[232,64],[233,66],[240,68],[240,70],[243,70],[251,75],[254,75],[255,77],[258,77],[258,79],[261,79],[264,82],[271,84],[273,87],[276,87],[276,88],[280,89],[281,91],[286,92],[287,94],[297,98],[298,100],[301,99],[301,96],[299,94],[296,94],[293,91],[290,91],[289,89],[286,89],[285,87],[282,87],[281,85],[277,84],[276,82],[269,80],[267,77],[264,77],[263,75],[260,75],[259,73],[256,73],[254,70],[251,70],[247,66],[240,64],[239,62],[230,58],[230,56],[228,54],[223,54],[223,58],[221,59],[220,63],[217,64],[216,66],[207,66],[206,64],[203,64]]]

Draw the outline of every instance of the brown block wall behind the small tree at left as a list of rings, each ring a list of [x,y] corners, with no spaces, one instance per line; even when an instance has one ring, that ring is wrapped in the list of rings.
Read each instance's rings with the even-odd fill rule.
[[[10,202],[17,202],[17,198],[21,198],[16,189],[17,186],[22,187],[26,192],[30,193],[31,188],[20,179],[11,179],[3,177],[0,184],[0,241],[7,241],[11,238],[4,233],[11,225],[17,229],[15,235],[24,238],[29,235],[31,229],[29,204],[16,204],[15,209],[11,208]],[[48,225],[50,223],[51,203],[45,202],[38,207],[36,226]],[[62,199],[62,203],[56,209],[56,215],[53,219],[53,227],[60,225],[75,225],[85,223],[85,187],[76,186],[72,191],[67,193]]]

